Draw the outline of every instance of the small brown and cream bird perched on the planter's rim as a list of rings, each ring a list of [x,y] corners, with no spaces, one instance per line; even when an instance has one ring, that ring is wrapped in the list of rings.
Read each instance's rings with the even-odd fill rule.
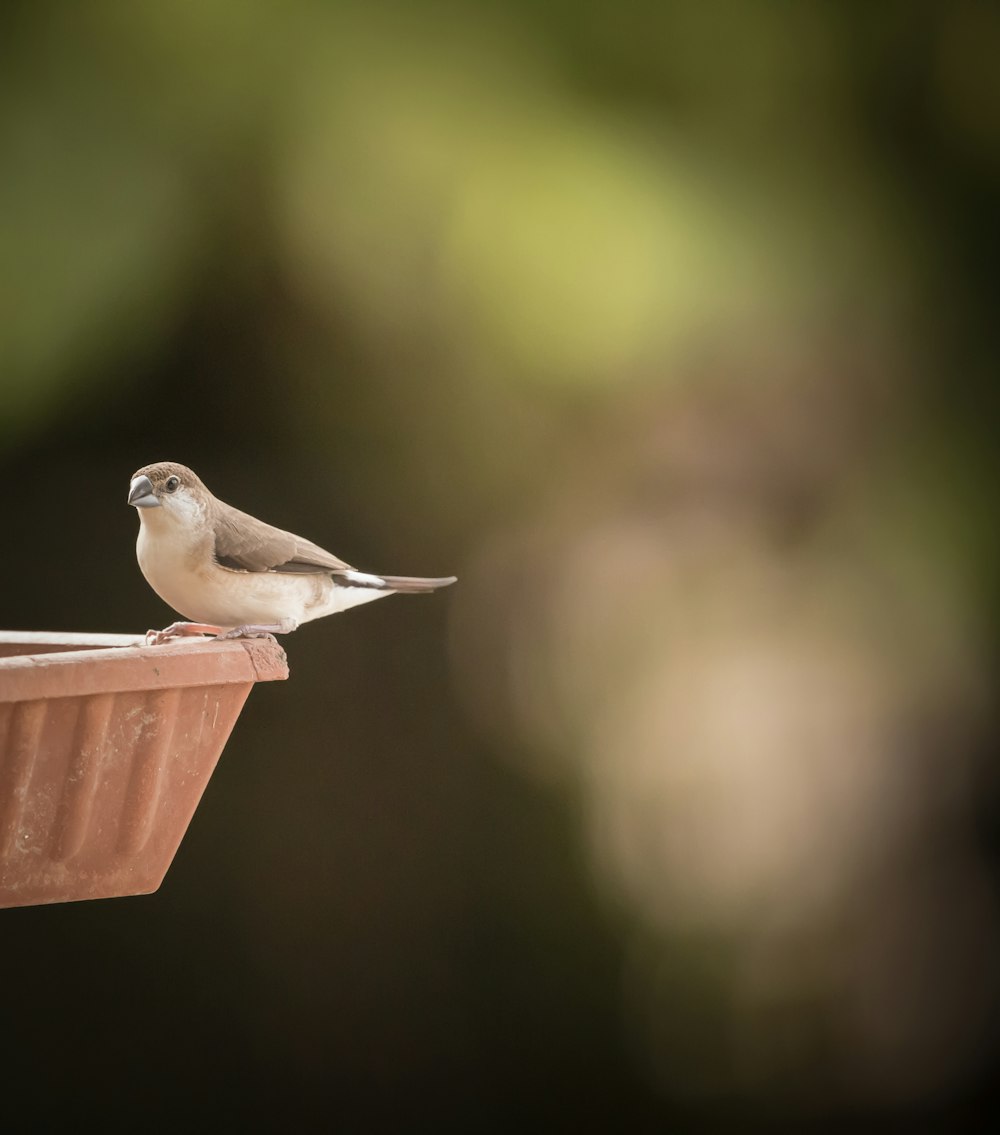
[[[456,581],[358,571],[319,545],[225,504],[176,461],[136,470],[128,504],[138,513],[140,570],[184,616],[149,631],[151,646],[184,634],[287,634],[386,595],[436,591]]]

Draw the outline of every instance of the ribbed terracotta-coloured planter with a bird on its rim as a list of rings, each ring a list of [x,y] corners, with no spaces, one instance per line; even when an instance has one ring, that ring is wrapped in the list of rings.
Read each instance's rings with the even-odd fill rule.
[[[254,682],[288,676],[270,639],[0,631],[0,907],[148,894]]]

